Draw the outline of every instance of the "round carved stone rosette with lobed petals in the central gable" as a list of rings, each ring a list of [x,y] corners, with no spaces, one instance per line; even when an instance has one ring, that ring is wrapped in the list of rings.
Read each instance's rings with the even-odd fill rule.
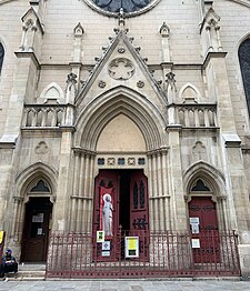
[[[109,63],[108,70],[114,80],[128,80],[134,73],[134,66],[129,59],[117,58]]]

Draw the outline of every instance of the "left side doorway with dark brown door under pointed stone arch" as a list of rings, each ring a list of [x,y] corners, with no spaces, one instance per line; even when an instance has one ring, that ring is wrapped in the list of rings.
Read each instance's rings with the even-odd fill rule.
[[[21,248],[21,259],[24,261],[46,260],[57,177],[52,168],[37,162],[16,179],[11,237]],[[28,248],[26,253],[33,255],[30,260],[29,255],[23,254],[24,247]]]

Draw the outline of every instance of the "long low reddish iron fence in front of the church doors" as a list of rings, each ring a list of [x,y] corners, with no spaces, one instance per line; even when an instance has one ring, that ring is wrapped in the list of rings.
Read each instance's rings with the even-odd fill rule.
[[[50,237],[47,278],[170,278],[240,275],[237,238],[233,231],[207,231],[202,245],[193,248],[190,232],[148,233],[138,235],[139,257],[126,258],[124,241],[131,232],[120,232],[108,243],[83,233],[53,233]],[[218,244],[219,241],[219,244]],[[212,245],[211,242],[214,242]],[[218,247],[219,245],[219,247]],[[196,245],[197,247],[197,245]],[[148,253],[149,255],[142,255]],[[199,255],[200,261],[194,258]]]

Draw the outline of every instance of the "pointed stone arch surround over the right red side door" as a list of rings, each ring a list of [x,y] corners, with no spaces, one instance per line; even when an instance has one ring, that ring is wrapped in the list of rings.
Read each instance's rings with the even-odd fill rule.
[[[216,208],[214,221],[218,221],[219,230],[228,229],[227,215],[227,195],[224,194],[224,177],[214,167],[199,161],[186,170],[184,188],[187,191],[187,217],[190,214],[190,204],[197,200],[202,204],[202,200],[207,201],[210,207],[213,204]],[[209,202],[209,200],[211,200]],[[207,203],[206,202],[206,203]]]

